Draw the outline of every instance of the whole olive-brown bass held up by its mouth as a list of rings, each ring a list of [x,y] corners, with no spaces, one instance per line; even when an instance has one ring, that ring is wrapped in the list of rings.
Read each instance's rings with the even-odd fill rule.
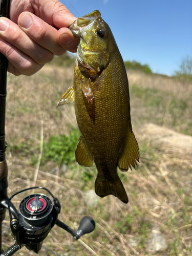
[[[79,165],[97,168],[95,192],[128,203],[118,169],[139,162],[132,131],[129,82],[124,62],[108,24],[95,10],[69,26],[79,41],[73,85],[57,106],[74,102],[80,138],[75,151]]]

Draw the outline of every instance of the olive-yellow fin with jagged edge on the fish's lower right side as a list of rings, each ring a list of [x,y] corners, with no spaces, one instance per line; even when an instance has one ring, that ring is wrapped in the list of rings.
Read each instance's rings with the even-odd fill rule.
[[[118,167],[122,172],[126,172],[131,166],[135,168],[139,161],[139,147],[133,131],[127,134],[124,151],[119,159]]]

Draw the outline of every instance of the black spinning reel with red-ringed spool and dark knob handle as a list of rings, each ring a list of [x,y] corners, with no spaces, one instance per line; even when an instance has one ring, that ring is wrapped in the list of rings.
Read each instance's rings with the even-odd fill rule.
[[[44,194],[32,194],[20,202],[18,212],[11,203],[12,198],[26,190],[34,188],[46,190],[53,198],[53,201]],[[57,217],[60,213],[60,203],[51,191],[45,187],[30,187],[18,191],[8,200],[8,210],[10,230],[15,244],[2,253],[2,256],[13,255],[23,246],[38,253],[41,249],[42,242],[55,224],[71,233],[75,240],[79,239],[83,234],[92,232],[95,228],[95,222],[89,216],[81,219],[77,232],[59,221]]]

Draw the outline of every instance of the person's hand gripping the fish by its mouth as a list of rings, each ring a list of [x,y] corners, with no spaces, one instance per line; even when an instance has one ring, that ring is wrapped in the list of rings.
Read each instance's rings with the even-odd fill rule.
[[[0,18],[0,52],[8,71],[33,75],[53,55],[75,52],[77,40],[67,28],[74,19],[58,0],[11,0],[10,19]]]

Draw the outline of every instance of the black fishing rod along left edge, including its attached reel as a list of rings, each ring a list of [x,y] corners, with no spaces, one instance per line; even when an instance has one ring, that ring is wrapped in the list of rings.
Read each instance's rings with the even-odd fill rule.
[[[1,0],[0,17],[9,18],[9,0]],[[65,223],[58,220],[60,213],[59,200],[54,197],[51,191],[45,187],[29,187],[18,191],[10,198],[7,195],[8,188],[8,166],[6,162],[6,141],[5,141],[5,114],[7,96],[7,58],[0,53],[0,253],[1,256],[13,255],[23,246],[38,253],[42,242],[48,236],[51,228],[57,225],[72,234],[75,240],[83,234],[92,232],[95,228],[95,221],[84,216],[77,232]],[[11,202],[12,198],[30,189],[46,190],[52,199],[42,193],[32,194],[25,197],[19,204],[18,210]],[[14,245],[7,251],[2,250],[2,222],[5,220],[6,209],[10,216],[10,230],[13,236]]]

